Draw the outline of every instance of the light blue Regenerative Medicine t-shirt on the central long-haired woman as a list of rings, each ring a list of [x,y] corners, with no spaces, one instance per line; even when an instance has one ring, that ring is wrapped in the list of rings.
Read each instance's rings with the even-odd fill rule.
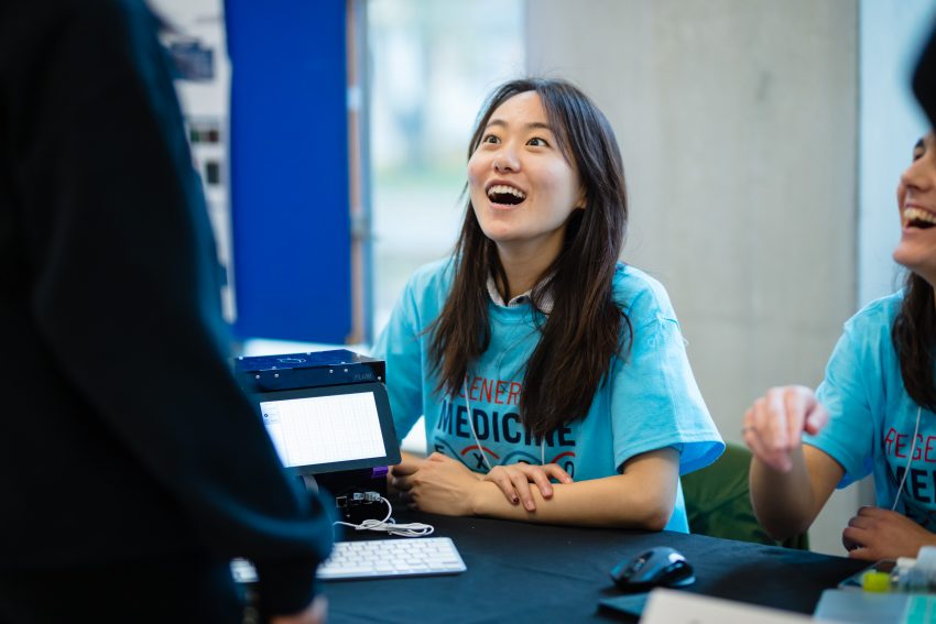
[[[440,313],[451,285],[451,261],[418,270],[411,278],[374,355],[387,361],[390,406],[400,439],[420,415],[426,417],[428,452],[458,459],[487,472],[468,424],[464,391],[435,392],[426,329]],[[519,461],[558,463],[575,481],[620,474],[630,458],[675,447],[685,474],[715,461],[725,449],[696,385],[675,313],[663,286],[645,273],[619,264],[616,302],[634,330],[625,361],[614,359],[610,383],[601,385],[584,419],[555,431],[541,447],[524,431],[520,394],[524,366],[540,340],[530,303],[503,307],[489,302],[491,342],[469,369],[468,402],[481,447],[492,466]],[[671,530],[688,532],[682,488]]]

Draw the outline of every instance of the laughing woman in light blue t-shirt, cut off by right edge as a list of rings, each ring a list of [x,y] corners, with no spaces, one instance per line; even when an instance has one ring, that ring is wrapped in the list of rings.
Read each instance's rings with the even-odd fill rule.
[[[936,138],[897,186],[903,291],[846,325],[814,394],[775,387],[744,415],[754,511],[774,537],[802,533],[836,486],[874,475],[877,506],[842,532],[857,559],[915,557],[936,545]]]

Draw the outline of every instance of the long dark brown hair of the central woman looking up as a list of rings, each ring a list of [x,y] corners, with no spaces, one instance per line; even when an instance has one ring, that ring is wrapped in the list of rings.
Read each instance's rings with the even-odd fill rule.
[[[496,89],[478,118],[468,158],[493,111],[527,91],[540,96],[559,151],[578,171],[586,199],[585,209],[569,216],[563,248],[531,293],[537,309],[545,293],[554,300],[545,320],[537,321],[541,338],[526,363],[520,396],[523,424],[541,438],[588,413],[595,393],[607,383],[613,357],[630,344],[630,320],[611,293],[627,231],[628,201],[611,124],[585,94],[564,80],[527,78]],[[481,230],[469,194],[455,248],[451,292],[429,328],[437,391],[457,394],[470,364],[490,346],[488,275],[509,292],[497,245]]]

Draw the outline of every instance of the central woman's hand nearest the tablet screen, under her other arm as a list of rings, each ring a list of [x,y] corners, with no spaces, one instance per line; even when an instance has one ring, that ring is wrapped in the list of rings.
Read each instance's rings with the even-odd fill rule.
[[[461,462],[434,452],[421,463],[403,462],[392,469],[391,485],[411,510],[447,516],[475,513],[472,495],[481,475]]]

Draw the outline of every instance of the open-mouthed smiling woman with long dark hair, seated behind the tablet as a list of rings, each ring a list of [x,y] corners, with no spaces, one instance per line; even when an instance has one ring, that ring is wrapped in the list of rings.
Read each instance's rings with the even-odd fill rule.
[[[608,120],[566,81],[507,83],[467,174],[455,253],[410,280],[376,348],[398,435],[424,414],[432,451],[392,485],[435,513],[687,530],[679,473],[723,445],[666,292],[618,262]]]

